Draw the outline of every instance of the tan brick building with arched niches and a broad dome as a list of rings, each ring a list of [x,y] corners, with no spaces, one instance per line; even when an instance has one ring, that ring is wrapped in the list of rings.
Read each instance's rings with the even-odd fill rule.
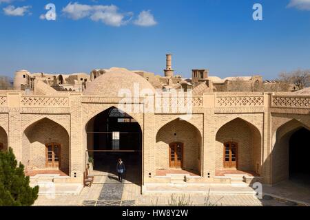
[[[167,62],[165,77],[173,77]],[[296,172],[309,176],[309,146],[300,141],[309,140],[310,94],[178,94],[127,69],[94,76],[83,92],[42,82],[34,82],[33,94],[1,91],[1,149],[13,148],[27,173],[59,171],[55,183],[83,184],[92,161],[104,167],[121,154],[140,170],[142,192],[147,184],[276,184]]]

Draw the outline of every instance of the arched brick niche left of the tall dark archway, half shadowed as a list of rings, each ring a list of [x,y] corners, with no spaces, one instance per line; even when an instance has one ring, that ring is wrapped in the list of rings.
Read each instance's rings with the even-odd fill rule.
[[[59,163],[56,163],[55,152],[48,155],[46,144],[50,143],[60,144]],[[70,139],[60,124],[48,118],[34,122],[23,132],[22,146],[22,162],[26,170],[61,170],[70,175]]]

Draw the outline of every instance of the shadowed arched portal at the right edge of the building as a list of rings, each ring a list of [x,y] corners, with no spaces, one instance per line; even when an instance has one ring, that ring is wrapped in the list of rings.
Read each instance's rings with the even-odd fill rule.
[[[276,142],[272,151],[272,184],[290,180],[310,185],[309,135],[308,127],[297,120],[277,129],[273,137]]]

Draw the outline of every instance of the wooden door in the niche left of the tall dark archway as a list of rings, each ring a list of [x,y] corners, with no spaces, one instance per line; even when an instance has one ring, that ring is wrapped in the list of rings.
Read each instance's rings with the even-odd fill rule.
[[[60,144],[46,144],[46,168],[59,168],[61,161]]]

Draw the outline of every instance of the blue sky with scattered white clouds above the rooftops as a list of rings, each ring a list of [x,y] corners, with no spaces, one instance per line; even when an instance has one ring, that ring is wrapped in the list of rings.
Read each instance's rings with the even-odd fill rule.
[[[66,0],[0,2],[6,76],[17,69],[89,73],[114,66],[163,75],[166,53],[185,77],[207,68],[222,78],[272,79],[310,68],[310,0],[71,1],[83,6],[76,8]],[[56,5],[56,21],[40,19],[47,3]],[[254,3],[262,4],[262,21],[252,19]]]

